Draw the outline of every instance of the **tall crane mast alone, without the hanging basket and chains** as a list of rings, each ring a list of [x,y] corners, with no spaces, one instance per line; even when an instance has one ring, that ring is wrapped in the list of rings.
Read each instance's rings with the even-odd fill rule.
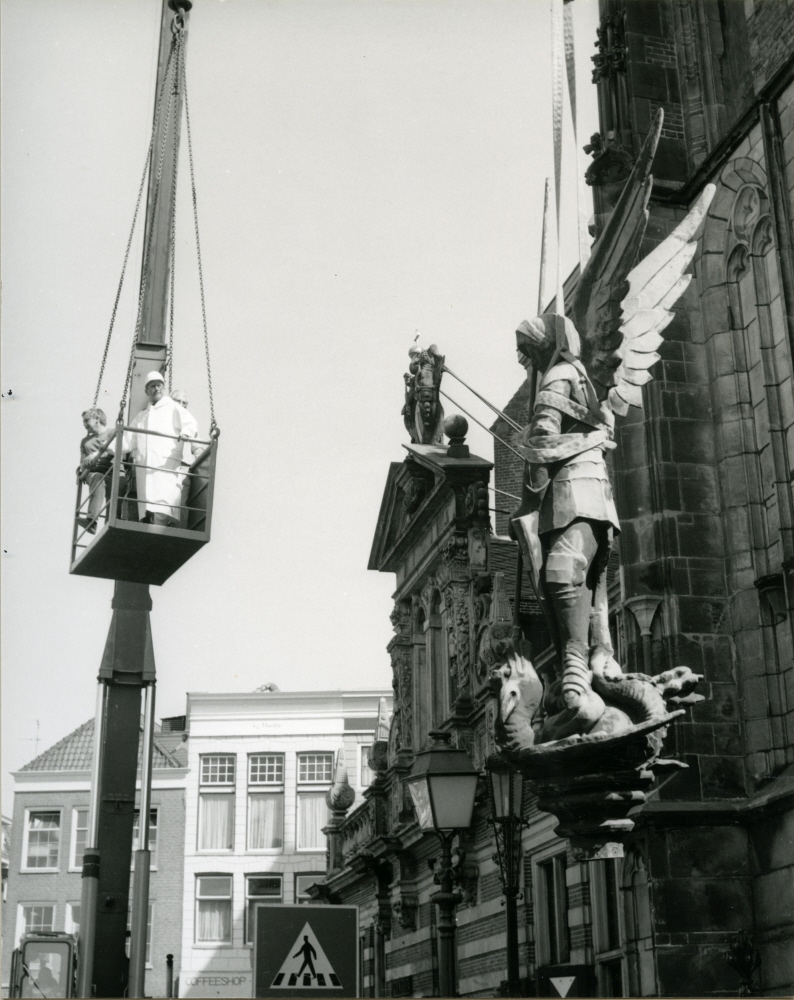
[[[190,0],[163,0],[155,88],[158,101],[170,76],[175,30],[187,38]],[[128,421],[143,407],[144,378],[167,359],[166,309],[171,268],[183,75],[173,74],[154,133],[141,269],[139,323],[132,358]],[[99,669],[94,763],[83,861],[78,995],[143,996],[149,883],[149,805],[154,731],[155,663],[148,584],[117,580],[113,618]],[[141,734],[141,695],[144,724]],[[130,867],[140,749],[139,850],[135,854],[129,967],[126,957]]]

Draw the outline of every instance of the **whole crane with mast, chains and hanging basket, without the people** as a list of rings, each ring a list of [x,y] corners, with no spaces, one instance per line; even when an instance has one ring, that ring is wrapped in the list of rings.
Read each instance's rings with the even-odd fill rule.
[[[181,502],[168,507],[159,523],[136,516],[142,497],[135,494],[135,478],[124,458],[125,442],[133,430],[154,438],[172,438],[161,448],[181,454],[179,436],[132,428],[135,415],[146,403],[147,378],[168,369],[171,342],[167,337],[167,312],[171,302],[173,335],[173,246],[176,179],[183,109],[187,122],[188,151],[196,212],[190,118],[185,85],[185,50],[191,0],[163,0],[155,111],[149,152],[138,194],[138,205],[148,177],[144,214],[143,261],[138,295],[135,336],[127,366],[122,403],[107,450],[101,482],[88,491],[78,482],[70,571],[115,581],[107,642],[97,678],[94,756],[91,799],[83,860],[78,996],[143,996],[149,892],[149,812],[156,671],[149,613],[150,585],[160,585],[210,538],[212,492],[218,429],[212,386],[210,439],[193,441],[189,466],[176,461],[172,472],[181,487]],[[138,216],[138,207],[133,219]],[[194,215],[198,241],[198,218]],[[105,360],[111,342],[121,283],[127,267],[132,233],[122,268],[119,293],[111,318],[97,385],[99,395]],[[199,253],[202,315],[209,378],[203,277]],[[149,373],[149,374],[147,374]],[[127,406],[126,419],[124,408]],[[147,438],[147,440],[149,440]],[[111,443],[112,442],[112,443]],[[155,442],[157,443],[157,442]],[[140,463],[140,459],[138,462]],[[143,459],[145,463],[146,459]],[[144,466],[144,474],[146,467]],[[150,469],[150,467],[149,467]],[[135,470],[136,473],[138,470]],[[138,479],[140,483],[142,480]],[[101,510],[94,506],[87,518],[91,497],[101,487]],[[88,496],[86,493],[88,492]],[[177,491],[178,492],[178,491]],[[151,520],[151,519],[150,519]],[[157,519],[154,519],[155,521]],[[140,737],[143,701],[143,738]],[[140,747],[139,747],[140,743]],[[126,960],[130,864],[132,860],[136,775],[140,757],[139,849],[135,853],[129,967]]]

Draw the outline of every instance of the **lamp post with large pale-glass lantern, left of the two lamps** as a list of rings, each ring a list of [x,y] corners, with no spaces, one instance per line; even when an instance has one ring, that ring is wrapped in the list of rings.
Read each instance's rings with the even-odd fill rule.
[[[455,981],[455,907],[452,838],[471,826],[479,772],[464,750],[451,745],[451,733],[432,732],[431,745],[421,750],[406,778],[422,830],[433,831],[441,841],[441,866],[436,874],[440,892],[432,896],[438,906],[438,980],[442,997],[458,995]]]

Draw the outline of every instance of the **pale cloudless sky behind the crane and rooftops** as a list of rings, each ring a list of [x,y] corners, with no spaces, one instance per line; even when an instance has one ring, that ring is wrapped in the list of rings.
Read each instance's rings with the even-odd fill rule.
[[[597,2],[573,9],[581,147],[597,130]],[[68,573],[74,471],[149,141],[160,12],[0,6],[4,814],[10,772],[94,710],[113,584]],[[514,330],[536,312],[553,172],[550,53],[547,0],[195,0],[187,77],[221,438],[212,541],[152,588],[158,718],[183,713],[187,691],[390,687],[395,581],[366,567],[389,463],[405,455],[407,351],[418,332],[497,405],[521,382]],[[574,148],[568,116],[563,273],[577,259]],[[174,387],[206,431],[186,178],[183,146]],[[140,259],[138,234],[109,415]],[[491,423],[449,376],[443,388]],[[468,443],[492,457],[474,425]]]

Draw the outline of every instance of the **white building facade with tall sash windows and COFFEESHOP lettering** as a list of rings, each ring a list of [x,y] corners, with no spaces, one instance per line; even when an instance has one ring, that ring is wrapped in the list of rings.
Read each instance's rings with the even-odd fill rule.
[[[179,995],[253,995],[257,907],[310,903],[325,877],[325,796],[344,751],[356,804],[391,691],[188,694]]]

